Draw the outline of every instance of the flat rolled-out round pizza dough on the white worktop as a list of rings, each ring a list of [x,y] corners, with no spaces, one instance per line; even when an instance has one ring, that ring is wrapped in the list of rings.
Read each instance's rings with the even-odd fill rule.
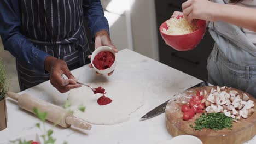
[[[112,125],[129,120],[129,115],[144,104],[144,92],[132,83],[91,83],[91,87],[102,86],[106,89],[106,97],[112,103],[98,105],[97,100],[102,94],[94,94],[89,87],[82,86],[72,89],[68,100],[71,102],[74,116],[91,124]],[[77,110],[83,104],[85,112]]]

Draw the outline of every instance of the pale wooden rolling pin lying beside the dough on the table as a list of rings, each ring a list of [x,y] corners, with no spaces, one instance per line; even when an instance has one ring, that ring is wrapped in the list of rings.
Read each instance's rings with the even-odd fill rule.
[[[37,107],[40,111],[47,112],[46,119],[50,122],[57,123],[57,125],[60,125],[63,128],[69,128],[71,125],[73,125],[74,127],[85,130],[91,129],[90,124],[81,119],[74,118],[72,113],[67,112],[67,110],[60,106],[31,97],[26,93],[19,95],[14,92],[8,92],[7,95],[10,98],[18,101],[18,105],[21,107],[21,109],[34,113],[33,109]]]

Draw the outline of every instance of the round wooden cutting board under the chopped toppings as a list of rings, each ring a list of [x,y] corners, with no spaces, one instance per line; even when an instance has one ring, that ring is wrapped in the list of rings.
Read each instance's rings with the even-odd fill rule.
[[[194,130],[189,125],[193,124],[197,118],[200,117],[201,114],[196,114],[193,119],[189,121],[183,120],[183,112],[181,111],[181,106],[185,103],[188,103],[192,95],[196,95],[197,91],[201,91],[206,89],[207,93],[211,91],[211,88],[215,88],[216,86],[208,86],[208,87],[199,87],[189,89],[181,94],[178,94],[176,100],[170,100],[166,106],[166,125],[167,130],[171,134],[171,136],[178,135],[194,135],[199,137],[204,144],[216,144],[216,143],[244,143],[248,140],[251,140],[256,134],[256,113],[252,116],[249,116],[247,119],[241,118],[240,121],[233,122],[232,130],[223,129],[223,130],[210,130],[203,129],[201,131]],[[227,92],[231,89],[236,90],[240,95],[242,92],[235,88],[228,88]],[[255,98],[252,95],[249,95],[249,99],[254,101],[254,105],[256,104]],[[181,96],[181,97],[179,97]],[[256,106],[254,106],[254,111],[256,112]]]

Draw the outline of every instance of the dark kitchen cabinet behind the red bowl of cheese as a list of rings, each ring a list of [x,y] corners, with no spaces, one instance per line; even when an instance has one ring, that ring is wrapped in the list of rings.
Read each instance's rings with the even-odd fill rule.
[[[185,0],[159,1],[155,0],[156,21],[159,29],[162,22],[170,19],[174,11],[182,11],[182,3]],[[207,58],[210,55],[214,40],[206,29],[205,36],[201,43],[197,45],[194,50],[180,52],[172,49],[172,47],[165,44],[160,32],[158,33],[159,45],[159,61],[172,68],[178,69],[197,77],[201,80],[207,80]]]

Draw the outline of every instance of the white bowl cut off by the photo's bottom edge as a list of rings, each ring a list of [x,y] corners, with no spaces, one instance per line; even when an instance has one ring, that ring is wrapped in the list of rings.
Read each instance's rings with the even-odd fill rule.
[[[202,141],[192,135],[179,135],[161,144],[202,144]]]

